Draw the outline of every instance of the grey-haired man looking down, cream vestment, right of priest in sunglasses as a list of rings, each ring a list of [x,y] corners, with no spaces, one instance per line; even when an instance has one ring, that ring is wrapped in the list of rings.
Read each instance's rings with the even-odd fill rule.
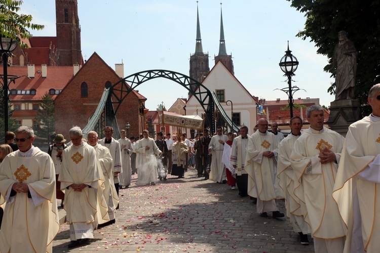
[[[98,189],[103,185],[101,168],[95,149],[82,140],[82,130],[74,126],[69,131],[72,145],[63,151],[62,170],[59,174],[61,189],[65,190],[66,222],[70,225],[70,244],[75,247],[94,238],[96,227]],[[99,203],[101,216],[107,220],[107,204]]]

